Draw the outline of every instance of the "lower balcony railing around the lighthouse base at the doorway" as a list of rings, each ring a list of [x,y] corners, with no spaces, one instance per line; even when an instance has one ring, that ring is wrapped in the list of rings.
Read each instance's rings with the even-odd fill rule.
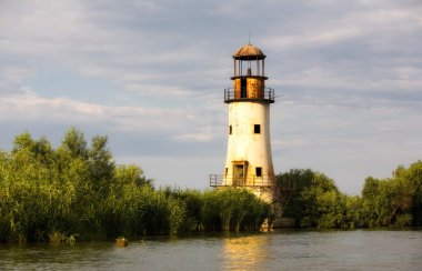
[[[233,177],[225,174],[210,174],[210,187],[274,187],[275,180],[271,177],[248,175]]]

